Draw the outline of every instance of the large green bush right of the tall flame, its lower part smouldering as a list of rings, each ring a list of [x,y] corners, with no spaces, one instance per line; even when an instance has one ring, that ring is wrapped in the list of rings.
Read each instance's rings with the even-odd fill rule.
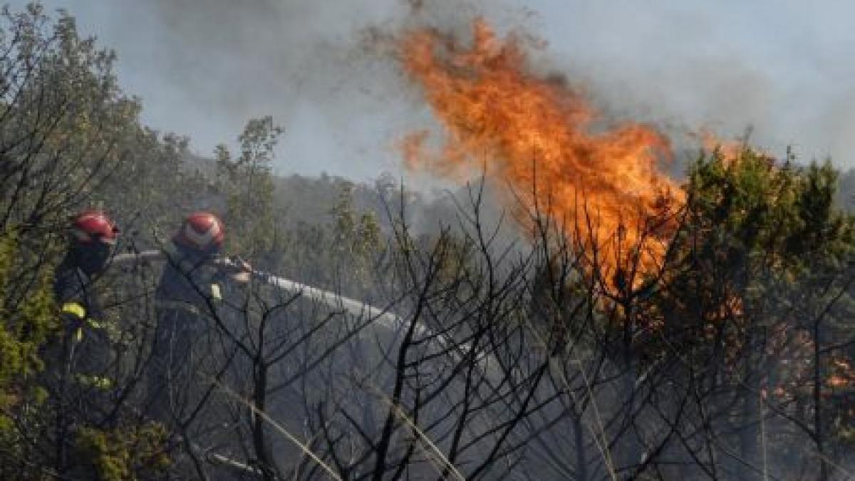
[[[752,396],[768,389],[781,398],[773,402],[820,412],[800,419],[813,436],[828,429],[849,436],[851,425],[841,422],[848,402],[835,407],[820,396],[833,361],[855,359],[828,347],[851,338],[846,320],[855,313],[846,281],[855,223],[834,205],[836,187],[830,163],[775,163],[748,147],[736,158],[701,157],[690,169],[685,221],[646,315],[663,317],[662,331],[651,336],[656,346],[666,340],[658,356],[674,348],[691,353],[681,362],[699,382],[731,386],[740,407],[732,425],[757,419]],[[780,409],[805,416],[790,405]],[[740,449],[755,446],[757,436],[742,428]]]

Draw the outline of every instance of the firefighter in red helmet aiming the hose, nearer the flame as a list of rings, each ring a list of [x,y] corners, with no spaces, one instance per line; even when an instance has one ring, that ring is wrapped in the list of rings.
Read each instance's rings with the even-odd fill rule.
[[[157,326],[149,370],[149,408],[168,422],[191,409],[193,375],[198,365],[194,341],[222,322],[227,292],[250,279],[243,261],[220,257],[225,226],[207,211],[187,216],[164,249],[167,265],[155,292]]]

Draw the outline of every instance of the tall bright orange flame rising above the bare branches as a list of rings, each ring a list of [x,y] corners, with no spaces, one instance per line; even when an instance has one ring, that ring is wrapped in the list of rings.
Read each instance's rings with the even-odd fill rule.
[[[485,21],[474,22],[469,47],[419,30],[402,39],[400,52],[445,129],[445,146],[433,154],[425,132],[405,140],[410,167],[446,176],[483,168],[529,211],[538,208],[568,235],[587,235],[607,274],[627,252],[640,253],[642,270],[661,262],[674,227],[669,213],[684,197],[657,169],[671,156],[663,135],[635,122],[600,127],[580,92],[534,74],[520,42],[497,39]]]

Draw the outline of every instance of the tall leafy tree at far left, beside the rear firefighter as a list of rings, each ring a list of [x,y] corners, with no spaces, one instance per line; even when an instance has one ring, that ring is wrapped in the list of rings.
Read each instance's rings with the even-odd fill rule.
[[[38,4],[18,13],[5,8],[0,33],[0,476],[97,478],[91,460],[79,456],[69,465],[54,448],[113,431],[111,424],[133,433],[145,423],[125,415],[124,398],[99,413],[57,402],[41,358],[62,332],[51,272],[67,216],[109,199],[105,186],[141,132],[139,103],[117,86],[115,55],[80,38],[70,15],[54,21]],[[59,435],[60,418],[80,422]]]

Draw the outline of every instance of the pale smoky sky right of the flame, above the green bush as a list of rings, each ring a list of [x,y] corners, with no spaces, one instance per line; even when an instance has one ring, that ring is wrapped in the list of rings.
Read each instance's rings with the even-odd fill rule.
[[[546,12],[548,2],[534,0]],[[540,7],[540,8],[539,8]],[[539,15],[544,62],[618,116],[679,136],[711,128],[804,160],[852,167],[852,6],[769,2],[572,2]]]

